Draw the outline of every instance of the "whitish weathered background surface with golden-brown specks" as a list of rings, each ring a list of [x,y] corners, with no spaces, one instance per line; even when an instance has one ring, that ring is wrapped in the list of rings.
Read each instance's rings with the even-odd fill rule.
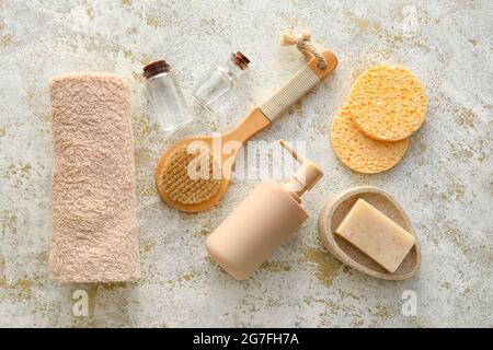
[[[482,326],[492,327],[492,2],[484,1],[13,1],[0,0],[0,326]],[[242,89],[216,120],[233,126],[303,65],[278,37],[310,28],[336,52],[330,80],[259,139],[306,141],[324,178],[303,198],[310,219],[254,278],[236,282],[204,241],[257,183],[237,180],[220,205],[183,214],[159,200],[159,133],[140,70],[169,60],[190,86],[241,49]],[[377,63],[414,72],[427,119],[393,170],[358,175],[329,145],[332,117],[354,79]],[[134,91],[142,278],[133,284],[59,285],[48,278],[51,116],[47,85],[70,71],[107,71]],[[202,118],[202,117],[199,117]],[[182,132],[210,132],[195,125]],[[419,275],[386,282],[333,260],[317,233],[329,198],[376,185],[400,200],[422,244]],[[72,293],[89,293],[89,316]],[[401,314],[404,290],[417,316]]]

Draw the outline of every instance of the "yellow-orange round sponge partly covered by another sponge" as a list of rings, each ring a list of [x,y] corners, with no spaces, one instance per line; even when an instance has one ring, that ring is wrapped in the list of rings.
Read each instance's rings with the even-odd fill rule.
[[[349,118],[347,106],[343,106],[332,121],[331,140],[341,162],[365,174],[391,168],[399,163],[409,145],[409,139],[386,142],[366,137]]]

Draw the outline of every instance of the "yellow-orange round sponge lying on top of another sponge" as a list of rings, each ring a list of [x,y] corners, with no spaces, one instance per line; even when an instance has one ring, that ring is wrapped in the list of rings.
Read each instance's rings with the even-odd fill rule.
[[[423,86],[402,67],[377,66],[351,89],[347,113],[368,137],[380,141],[409,138],[426,114]]]

